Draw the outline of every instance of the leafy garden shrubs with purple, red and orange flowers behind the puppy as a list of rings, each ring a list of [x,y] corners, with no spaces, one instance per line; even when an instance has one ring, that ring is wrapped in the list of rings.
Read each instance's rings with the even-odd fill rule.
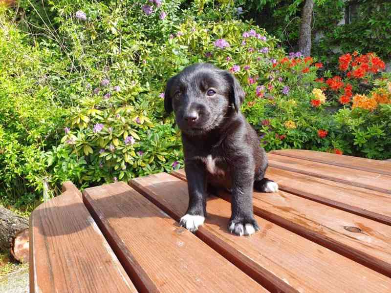
[[[231,71],[267,150],[391,158],[389,1],[21,0],[0,8],[0,204],[28,215],[79,188],[183,167],[167,80]],[[381,11],[381,13],[379,13]],[[341,20],[343,20],[341,22]]]

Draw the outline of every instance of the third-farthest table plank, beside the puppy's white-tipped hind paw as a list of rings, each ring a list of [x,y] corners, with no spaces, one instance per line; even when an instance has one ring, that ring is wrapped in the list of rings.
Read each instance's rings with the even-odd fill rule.
[[[391,225],[391,195],[269,167],[266,177],[287,191],[331,207]]]

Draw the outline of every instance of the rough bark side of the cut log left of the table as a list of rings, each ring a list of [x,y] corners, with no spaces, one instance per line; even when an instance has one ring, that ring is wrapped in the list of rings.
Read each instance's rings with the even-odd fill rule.
[[[28,229],[28,220],[0,207],[0,251],[12,246],[15,236]]]

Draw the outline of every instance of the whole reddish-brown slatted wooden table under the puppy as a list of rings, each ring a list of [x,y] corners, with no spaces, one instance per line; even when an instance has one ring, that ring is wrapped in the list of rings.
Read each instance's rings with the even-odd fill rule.
[[[87,188],[30,218],[31,293],[391,292],[391,162],[304,150],[268,154],[276,193],[254,192],[261,230],[227,230],[229,195],[204,226],[178,226],[183,170]]]

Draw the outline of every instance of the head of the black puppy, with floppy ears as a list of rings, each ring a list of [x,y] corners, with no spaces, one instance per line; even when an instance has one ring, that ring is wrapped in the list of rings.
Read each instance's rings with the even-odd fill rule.
[[[202,135],[238,113],[244,95],[229,72],[209,63],[196,63],[168,81],[164,107],[167,113],[174,110],[183,132]]]

